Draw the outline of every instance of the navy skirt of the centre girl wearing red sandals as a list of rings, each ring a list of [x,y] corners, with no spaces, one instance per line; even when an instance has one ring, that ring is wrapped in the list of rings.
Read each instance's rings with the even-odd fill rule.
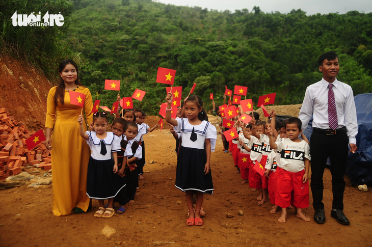
[[[204,175],[207,155],[204,149],[185,148],[180,146],[177,159],[176,188],[184,191],[200,191],[213,194],[212,174]]]

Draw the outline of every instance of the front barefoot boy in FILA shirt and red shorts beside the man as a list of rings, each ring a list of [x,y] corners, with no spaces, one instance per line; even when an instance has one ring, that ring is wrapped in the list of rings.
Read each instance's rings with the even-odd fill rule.
[[[293,205],[297,209],[297,217],[304,221],[310,221],[302,209],[309,206],[309,166],[310,147],[305,141],[300,140],[301,120],[289,118],[286,121],[286,134],[288,138],[274,142],[273,131],[268,129],[270,136],[270,147],[281,151],[280,166],[276,171],[277,191],[275,204],[282,208],[279,222],[284,223],[287,217],[287,207],[293,191]]]

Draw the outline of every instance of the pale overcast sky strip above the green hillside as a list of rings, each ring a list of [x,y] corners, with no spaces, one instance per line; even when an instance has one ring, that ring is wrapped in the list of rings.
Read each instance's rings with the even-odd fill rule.
[[[301,9],[307,15],[336,12],[344,14],[353,10],[364,13],[372,12],[371,0],[155,0],[155,2],[177,6],[198,6],[208,10],[230,10],[231,12],[242,9],[248,9],[251,12],[254,6],[258,6],[265,13],[275,11],[288,13],[293,9]]]

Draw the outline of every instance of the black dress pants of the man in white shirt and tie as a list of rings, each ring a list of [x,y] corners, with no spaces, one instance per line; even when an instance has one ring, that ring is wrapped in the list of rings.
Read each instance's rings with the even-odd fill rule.
[[[343,176],[346,171],[348,159],[349,139],[347,133],[326,135],[325,133],[313,132],[310,138],[311,155],[311,192],[314,209],[324,209],[323,200],[323,173],[327,158],[331,160],[332,174],[332,209],[343,210],[343,192],[345,181]]]

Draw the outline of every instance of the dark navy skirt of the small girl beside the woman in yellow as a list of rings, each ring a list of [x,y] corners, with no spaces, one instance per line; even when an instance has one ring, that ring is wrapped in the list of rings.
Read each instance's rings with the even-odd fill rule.
[[[114,173],[114,160],[89,158],[87,195],[91,199],[114,198],[125,186],[125,179]]]

